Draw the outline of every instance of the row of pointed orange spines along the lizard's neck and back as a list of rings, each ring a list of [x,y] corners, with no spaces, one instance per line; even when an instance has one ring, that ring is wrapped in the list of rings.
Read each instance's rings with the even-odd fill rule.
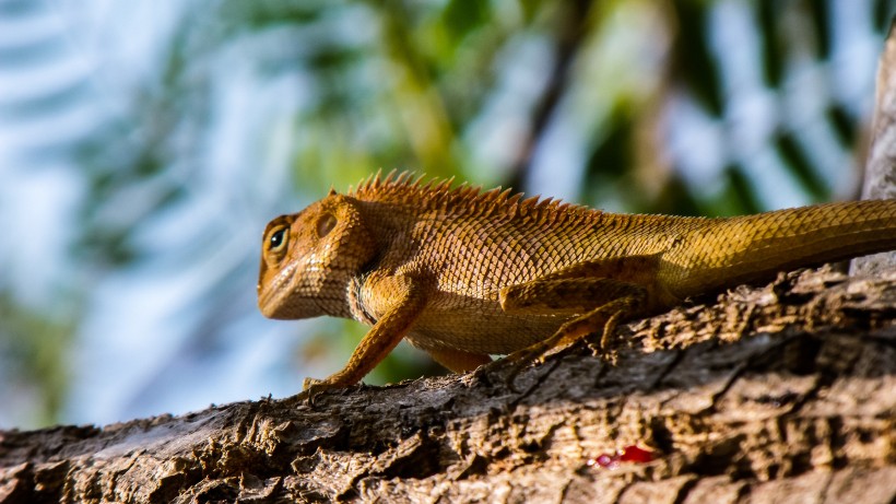
[[[362,180],[357,189],[349,188],[349,196],[362,201],[413,204],[423,210],[451,210],[475,215],[504,214],[510,218],[524,216],[534,221],[555,223],[558,221],[586,221],[601,212],[577,204],[565,203],[553,198],[532,196],[523,199],[522,192],[511,194],[511,189],[496,187],[482,190],[467,183],[452,188],[455,178],[432,178],[424,183],[424,175],[414,178],[411,172],[391,171],[385,177],[381,171]]]

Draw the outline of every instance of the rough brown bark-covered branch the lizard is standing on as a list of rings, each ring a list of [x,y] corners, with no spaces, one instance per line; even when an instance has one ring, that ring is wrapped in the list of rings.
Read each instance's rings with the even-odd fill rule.
[[[711,300],[710,300],[711,301]],[[0,503],[896,499],[896,276],[823,270],[528,370],[0,433]],[[486,379],[490,378],[490,379]],[[638,446],[652,461],[592,464]]]

